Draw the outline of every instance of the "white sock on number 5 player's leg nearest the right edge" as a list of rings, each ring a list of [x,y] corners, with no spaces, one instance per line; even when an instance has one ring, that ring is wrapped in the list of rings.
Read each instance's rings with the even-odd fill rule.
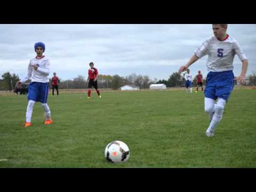
[[[214,104],[215,113],[212,117],[212,121],[208,129],[206,130],[206,132],[214,132],[214,130],[216,129],[216,127],[218,126],[218,124],[222,119],[225,105],[226,105],[226,100],[222,98],[218,98],[217,103]]]

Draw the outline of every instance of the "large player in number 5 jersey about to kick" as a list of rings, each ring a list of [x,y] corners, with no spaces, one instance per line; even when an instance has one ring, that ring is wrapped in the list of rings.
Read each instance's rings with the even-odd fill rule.
[[[206,130],[207,137],[214,136],[214,130],[222,119],[224,107],[228,102],[234,87],[233,60],[235,54],[242,61],[242,72],[236,78],[237,82],[244,83],[248,60],[238,42],[227,35],[227,24],[213,24],[214,36],[209,37],[199,46],[195,54],[185,66],[181,66],[179,73],[187,70],[199,58],[209,55],[206,66],[210,71],[206,77],[205,111],[209,114],[210,125]],[[218,101],[215,103],[215,100]]]

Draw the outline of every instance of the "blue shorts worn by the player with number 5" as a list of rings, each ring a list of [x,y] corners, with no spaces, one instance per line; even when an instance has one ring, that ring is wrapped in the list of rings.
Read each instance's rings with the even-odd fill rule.
[[[210,72],[206,77],[204,95],[206,98],[216,100],[218,97],[228,102],[234,88],[233,71]]]

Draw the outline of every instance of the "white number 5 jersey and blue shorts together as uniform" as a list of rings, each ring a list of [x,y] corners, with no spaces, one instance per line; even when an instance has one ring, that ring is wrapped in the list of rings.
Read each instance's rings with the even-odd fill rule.
[[[206,66],[210,72],[206,77],[205,98],[228,101],[234,87],[235,54],[241,61],[247,59],[238,42],[229,35],[223,41],[211,36],[196,49],[195,54],[198,58],[209,55]]]

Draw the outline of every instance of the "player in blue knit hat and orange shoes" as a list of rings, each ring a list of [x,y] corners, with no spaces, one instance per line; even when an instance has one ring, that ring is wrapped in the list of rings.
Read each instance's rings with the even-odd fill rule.
[[[28,74],[25,78],[19,81],[17,84],[25,83],[31,78],[31,83],[28,87],[28,106],[26,113],[25,127],[31,126],[31,116],[35,102],[41,102],[45,111],[44,124],[51,124],[51,111],[47,105],[47,96],[49,90],[49,78],[50,73],[50,61],[43,55],[45,51],[45,45],[42,42],[35,44],[36,57],[29,61]]]

